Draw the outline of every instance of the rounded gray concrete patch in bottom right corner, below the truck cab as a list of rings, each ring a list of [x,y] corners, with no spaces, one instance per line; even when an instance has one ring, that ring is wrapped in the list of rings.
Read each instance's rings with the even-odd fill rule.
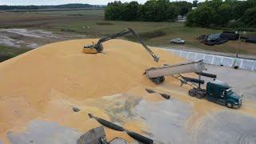
[[[256,143],[256,119],[230,110],[212,114],[198,127],[193,143]]]

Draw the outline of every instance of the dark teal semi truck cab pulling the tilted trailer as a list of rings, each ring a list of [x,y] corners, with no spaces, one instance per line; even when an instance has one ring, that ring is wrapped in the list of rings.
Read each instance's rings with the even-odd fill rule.
[[[230,89],[225,82],[215,80],[207,82],[206,98],[209,101],[227,106],[229,108],[238,108],[242,106],[242,97]]]

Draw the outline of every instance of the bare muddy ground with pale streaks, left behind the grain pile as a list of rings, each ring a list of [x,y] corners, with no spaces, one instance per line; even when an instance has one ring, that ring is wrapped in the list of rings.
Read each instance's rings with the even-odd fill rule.
[[[86,38],[82,34],[34,29],[0,29],[0,45],[34,49],[52,42]]]

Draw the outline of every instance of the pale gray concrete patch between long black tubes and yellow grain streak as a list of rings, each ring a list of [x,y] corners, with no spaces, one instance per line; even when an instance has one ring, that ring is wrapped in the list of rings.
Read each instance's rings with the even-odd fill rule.
[[[192,114],[190,104],[177,99],[163,102],[142,101],[134,111],[149,126],[148,132],[152,134],[154,143],[189,142],[185,123]]]

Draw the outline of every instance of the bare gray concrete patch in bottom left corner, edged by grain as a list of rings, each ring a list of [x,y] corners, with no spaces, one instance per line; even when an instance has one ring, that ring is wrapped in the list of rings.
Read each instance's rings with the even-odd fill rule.
[[[82,134],[54,122],[33,121],[27,130],[20,133],[8,132],[6,135],[12,144],[70,144],[76,143]]]

